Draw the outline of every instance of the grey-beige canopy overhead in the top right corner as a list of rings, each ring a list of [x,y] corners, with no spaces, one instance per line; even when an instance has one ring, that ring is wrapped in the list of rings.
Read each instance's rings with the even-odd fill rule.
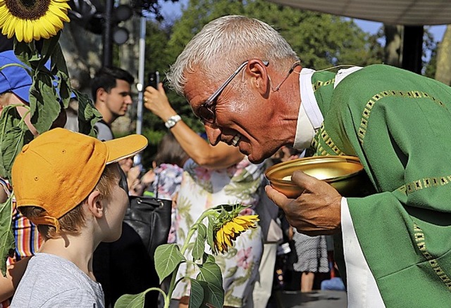
[[[451,24],[451,0],[270,0],[310,11],[390,25]]]

